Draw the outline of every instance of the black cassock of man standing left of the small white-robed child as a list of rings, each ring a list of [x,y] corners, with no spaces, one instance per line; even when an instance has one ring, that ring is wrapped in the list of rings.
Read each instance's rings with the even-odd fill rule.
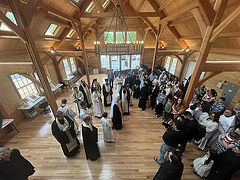
[[[82,137],[86,158],[95,161],[100,157],[98,149],[98,129],[92,125],[93,130],[82,126]]]

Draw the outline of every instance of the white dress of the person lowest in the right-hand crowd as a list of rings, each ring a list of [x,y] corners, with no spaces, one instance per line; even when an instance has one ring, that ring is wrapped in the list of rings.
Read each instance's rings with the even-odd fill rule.
[[[210,173],[214,161],[210,161],[209,164],[204,164],[208,159],[208,154],[205,154],[203,157],[197,158],[193,161],[193,168],[197,174],[201,177],[207,177]]]

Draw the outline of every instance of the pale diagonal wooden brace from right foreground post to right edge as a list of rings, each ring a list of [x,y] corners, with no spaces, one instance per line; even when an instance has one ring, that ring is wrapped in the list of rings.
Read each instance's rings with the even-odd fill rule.
[[[238,16],[240,15],[240,6],[237,7],[231,14],[226,17],[221,24],[219,24],[213,31],[212,38],[210,42],[213,42],[219,34],[231,23],[233,22]]]

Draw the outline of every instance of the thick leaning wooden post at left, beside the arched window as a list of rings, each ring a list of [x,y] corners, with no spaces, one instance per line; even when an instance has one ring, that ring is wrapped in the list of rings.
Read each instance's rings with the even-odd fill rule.
[[[42,87],[44,89],[45,95],[48,99],[48,102],[52,108],[53,114],[56,114],[56,111],[58,109],[55,96],[52,92],[52,89],[50,87],[50,84],[48,82],[47,76],[44,72],[44,68],[39,56],[39,53],[37,51],[36,45],[34,40],[32,39],[32,34],[29,29],[29,26],[26,24],[26,17],[23,16],[21,5],[19,0],[8,0],[9,6],[14,14],[14,17],[17,21],[18,27],[24,32],[26,41],[24,42],[24,45],[27,49],[27,52],[29,54],[30,59],[33,62],[34,68],[36,69],[36,72],[38,74],[38,77],[40,79],[40,82],[42,84]]]

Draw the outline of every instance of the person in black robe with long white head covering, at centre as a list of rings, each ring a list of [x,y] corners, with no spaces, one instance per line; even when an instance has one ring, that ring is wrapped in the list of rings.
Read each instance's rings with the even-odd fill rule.
[[[113,122],[113,129],[120,130],[122,129],[122,120],[123,120],[123,113],[122,113],[122,107],[120,105],[120,97],[119,93],[117,92],[114,95],[112,104],[111,104],[111,111],[110,111],[110,117],[112,118]]]

